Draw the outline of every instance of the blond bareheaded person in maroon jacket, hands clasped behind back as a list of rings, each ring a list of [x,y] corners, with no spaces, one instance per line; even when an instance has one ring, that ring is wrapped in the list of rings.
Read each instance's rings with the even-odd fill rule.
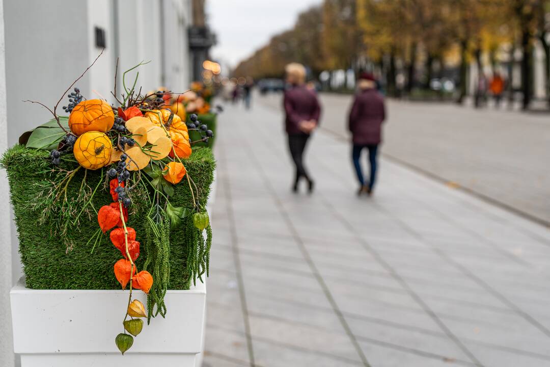
[[[300,178],[305,178],[307,190],[313,192],[313,180],[304,167],[304,150],[307,140],[319,123],[321,106],[317,96],[305,86],[306,70],[303,65],[291,63],[285,67],[289,89],[284,92],[285,128],[288,134],[290,155],[296,166],[292,190],[298,191]]]

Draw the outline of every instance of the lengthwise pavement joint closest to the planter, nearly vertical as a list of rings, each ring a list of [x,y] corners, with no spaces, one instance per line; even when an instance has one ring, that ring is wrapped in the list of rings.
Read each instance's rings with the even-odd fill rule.
[[[223,145],[222,145],[223,146]],[[226,160],[226,167],[227,167],[227,158],[226,155],[222,154],[222,156]],[[245,335],[246,335],[246,349],[248,350],[248,355],[250,359],[250,367],[256,367],[256,363],[254,360],[254,349],[252,346],[252,338],[250,337],[250,322],[248,319],[248,308],[246,306],[246,295],[245,295],[245,288],[244,288],[244,280],[243,280],[243,272],[241,269],[240,264],[240,258],[239,258],[239,247],[238,247],[238,235],[237,235],[237,226],[235,223],[235,217],[233,215],[233,200],[231,196],[231,183],[230,183],[230,177],[224,179],[222,181],[224,190],[226,191],[226,209],[227,209],[227,216],[229,219],[230,228],[230,237],[232,242],[232,248],[233,248],[233,260],[235,262],[235,270],[237,270],[237,281],[239,283],[239,297],[241,302],[241,310],[243,312],[243,320],[244,320],[244,327],[245,327]]]

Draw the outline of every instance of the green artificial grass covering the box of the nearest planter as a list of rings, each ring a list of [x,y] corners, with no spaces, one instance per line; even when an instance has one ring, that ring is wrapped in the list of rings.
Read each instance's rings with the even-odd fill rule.
[[[59,168],[71,170],[78,167],[65,157],[62,157]],[[36,199],[38,195],[43,195],[44,188],[51,186],[49,181],[53,175],[58,174],[52,173],[49,152],[15,145],[4,152],[0,165],[8,173],[26,286],[31,289],[120,289],[120,284],[114,277],[113,265],[122,255],[111,243],[109,232],[102,234],[101,244],[96,246],[93,253],[93,241],[86,244],[99,228],[95,213],[92,212],[90,217],[81,217],[79,226],[69,228],[65,236],[54,233],[52,222],[46,221],[41,225],[38,223],[38,216],[43,208],[36,207]],[[184,165],[197,185],[200,202],[206,204],[215,169],[212,151],[208,148],[194,149],[193,155],[184,161]],[[101,172],[101,169],[88,171],[86,176],[86,182],[91,188],[95,188],[100,180],[105,180],[107,184],[100,184],[92,199],[96,210],[112,202],[108,180],[105,179],[106,169],[103,169],[103,174]],[[69,183],[68,198],[76,195],[83,178],[84,169],[80,169]],[[136,239],[140,242],[145,240],[144,223],[149,205],[136,198],[140,194],[149,195],[145,191],[138,187],[130,196],[133,198],[133,205],[128,226],[136,229]],[[193,201],[185,179],[175,185],[175,193],[170,201],[173,206],[192,209]],[[189,224],[191,217],[186,217],[184,221]],[[189,289],[190,286],[191,277],[186,269],[188,248],[184,240],[186,227],[190,226],[183,224],[170,234],[169,289]],[[72,248],[67,249],[67,242],[72,244]],[[138,270],[142,269],[146,256],[145,246],[142,244],[141,254],[136,261]]]

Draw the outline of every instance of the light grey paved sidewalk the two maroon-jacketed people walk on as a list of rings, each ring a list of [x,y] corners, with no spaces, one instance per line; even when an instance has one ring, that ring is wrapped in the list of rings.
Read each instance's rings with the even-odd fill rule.
[[[357,199],[323,132],[294,195],[280,112],[218,125],[205,367],[550,366],[548,229],[384,159]]]

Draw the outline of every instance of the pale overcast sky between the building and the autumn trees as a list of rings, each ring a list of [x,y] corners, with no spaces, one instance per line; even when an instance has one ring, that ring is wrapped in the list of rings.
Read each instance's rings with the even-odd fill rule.
[[[278,32],[292,28],[298,13],[321,0],[207,0],[208,25],[218,45],[212,57],[234,67]]]

